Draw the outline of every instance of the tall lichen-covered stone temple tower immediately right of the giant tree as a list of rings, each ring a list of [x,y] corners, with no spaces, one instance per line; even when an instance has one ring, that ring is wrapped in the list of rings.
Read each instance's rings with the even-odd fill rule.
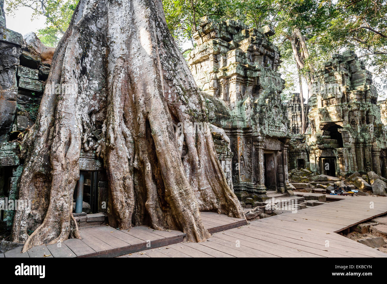
[[[197,85],[208,94],[211,123],[230,140],[231,151],[219,148],[219,158],[243,202],[263,202],[267,189],[285,192],[289,185],[289,121],[273,34],[267,26],[248,29],[240,21],[204,17],[188,56]]]

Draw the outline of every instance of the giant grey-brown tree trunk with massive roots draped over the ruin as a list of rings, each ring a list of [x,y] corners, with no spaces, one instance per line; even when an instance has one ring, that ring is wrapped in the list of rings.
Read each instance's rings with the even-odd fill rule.
[[[149,224],[204,241],[210,234],[199,211],[244,218],[212,136],[174,128],[205,125],[207,118],[161,0],[80,0],[48,82],[66,87],[52,94],[46,86],[24,141],[19,198],[33,199],[33,206],[16,212],[12,231],[14,241],[26,241],[23,251],[79,238],[72,199],[82,148],[104,160],[114,228]]]

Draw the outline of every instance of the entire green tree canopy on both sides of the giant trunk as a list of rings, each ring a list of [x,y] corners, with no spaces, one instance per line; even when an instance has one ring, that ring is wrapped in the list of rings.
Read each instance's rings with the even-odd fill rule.
[[[29,7],[33,16],[46,17],[46,27],[38,31],[38,36],[48,46],[58,43],[78,1],[6,0],[8,12]],[[310,83],[311,73],[332,54],[347,49],[365,61],[377,79],[380,95],[385,95],[387,0],[164,0],[163,6],[168,28],[182,50],[187,42],[195,46],[192,35],[203,16],[241,20],[255,28],[274,27],[272,41],[281,48],[282,72],[290,80],[285,98],[299,78]]]

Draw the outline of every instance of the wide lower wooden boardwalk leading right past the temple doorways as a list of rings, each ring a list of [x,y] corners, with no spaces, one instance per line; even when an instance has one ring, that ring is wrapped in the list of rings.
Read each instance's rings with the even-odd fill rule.
[[[337,232],[387,213],[387,198],[356,196],[252,221],[202,243],[176,243],[122,257],[387,257]]]

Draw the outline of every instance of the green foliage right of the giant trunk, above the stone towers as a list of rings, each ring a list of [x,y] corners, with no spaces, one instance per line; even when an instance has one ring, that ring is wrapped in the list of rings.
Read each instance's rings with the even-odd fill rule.
[[[164,0],[171,33],[182,44],[192,41],[197,21],[204,15],[214,20],[238,19],[250,27],[274,27],[271,37],[280,46],[286,65],[285,92],[298,84],[289,38],[295,28],[307,39],[309,57],[301,70],[304,78],[328,61],[332,54],[354,50],[378,78],[378,90],[387,86],[387,0]],[[299,43],[298,43],[299,44]],[[282,70],[281,70],[282,71]]]

